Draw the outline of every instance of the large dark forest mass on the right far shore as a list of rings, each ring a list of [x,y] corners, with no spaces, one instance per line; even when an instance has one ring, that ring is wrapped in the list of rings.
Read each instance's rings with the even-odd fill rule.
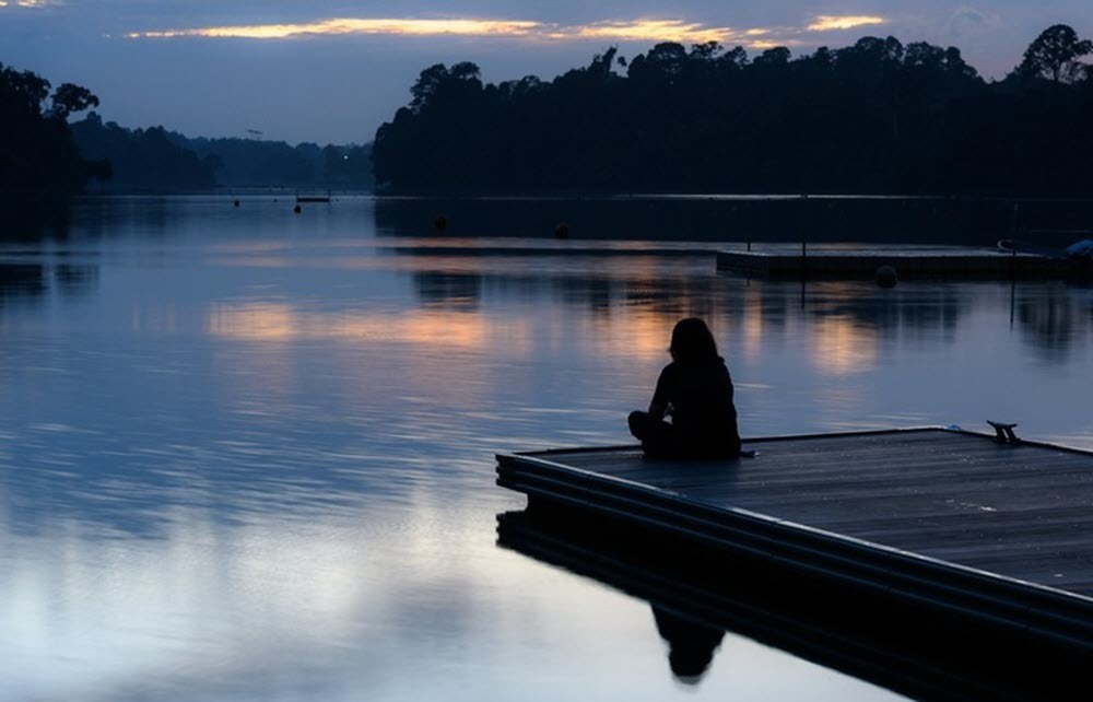
[[[432,66],[376,132],[392,191],[1093,192],[1093,44],[1065,25],[1004,80],[959,49],[865,37],[751,58],[610,49],[553,81]]]

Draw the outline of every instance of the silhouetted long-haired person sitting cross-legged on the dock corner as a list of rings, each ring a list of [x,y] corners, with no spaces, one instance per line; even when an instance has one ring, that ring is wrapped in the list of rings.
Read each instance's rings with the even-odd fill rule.
[[[648,412],[631,412],[630,432],[650,458],[733,458],[740,455],[732,378],[706,323],[680,320]],[[671,422],[665,417],[671,417]]]

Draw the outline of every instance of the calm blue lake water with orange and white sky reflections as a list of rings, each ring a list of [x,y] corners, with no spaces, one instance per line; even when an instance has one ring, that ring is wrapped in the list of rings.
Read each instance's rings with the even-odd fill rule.
[[[524,499],[494,453],[627,443],[691,314],[745,437],[989,418],[1093,448],[1086,286],[802,289],[610,217],[304,207],[89,200],[0,245],[0,698],[896,698],[731,631],[678,680],[648,602],[496,546]]]

